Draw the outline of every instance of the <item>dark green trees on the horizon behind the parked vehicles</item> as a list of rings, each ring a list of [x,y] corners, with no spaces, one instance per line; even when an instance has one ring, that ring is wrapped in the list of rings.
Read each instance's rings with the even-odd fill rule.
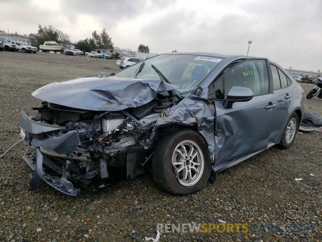
[[[59,45],[71,45],[70,36],[59,29],[54,28],[52,25],[42,26],[38,25],[38,31],[35,34],[29,35],[30,42],[33,46],[43,45],[45,41],[55,41]],[[90,52],[95,49],[114,49],[114,44],[112,38],[106,32],[104,28],[101,33],[98,33],[96,30],[93,31],[92,36],[83,40],[79,40],[76,43],[73,43],[76,49],[82,51]],[[138,52],[150,53],[150,48],[148,45],[140,44],[137,47]],[[173,50],[172,52],[177,52]]]

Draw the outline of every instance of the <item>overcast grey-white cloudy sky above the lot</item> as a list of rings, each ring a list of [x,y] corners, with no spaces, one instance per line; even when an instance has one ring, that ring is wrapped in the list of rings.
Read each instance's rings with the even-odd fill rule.
[[[77,41],[106,28],[115,46],[214,51],[322,71],[322,0],[0,0],[0,29],[52,25]]]

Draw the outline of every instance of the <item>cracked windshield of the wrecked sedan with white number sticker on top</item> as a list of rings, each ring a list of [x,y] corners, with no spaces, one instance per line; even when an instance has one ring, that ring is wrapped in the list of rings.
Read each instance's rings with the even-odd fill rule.
[[[140,61],[139,64],[129,66],[115,76],[160,80],[156,67],[169,83],[177,86],[176,91],[181,96],[186,96],[221,60],[222,58],[209,56],[164,54]]]

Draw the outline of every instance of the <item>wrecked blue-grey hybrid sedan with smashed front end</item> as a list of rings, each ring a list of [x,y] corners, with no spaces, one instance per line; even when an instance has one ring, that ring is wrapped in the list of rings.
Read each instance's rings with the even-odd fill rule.
[[[142,174],[187,195],[218,172],[272,146],[288,149],[304,114],[304,91],[266,58],[216,53],[156,55],[107,76],[58,81],[22,109],[30,186],[71,196],[95,181]]]

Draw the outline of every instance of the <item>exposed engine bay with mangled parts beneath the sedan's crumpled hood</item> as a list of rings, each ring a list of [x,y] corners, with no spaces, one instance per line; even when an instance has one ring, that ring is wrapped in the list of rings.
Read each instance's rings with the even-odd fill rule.
[[[34,151],[29,161],[24,159],[36,170],[38,152],[43,157],[43,176],[48,176],[45,181],[51,180],[49,185],[68,195],[80,191],[68,180],[87,187],[96,178],[113,176],[110,169],[125,169],[127,178],[134,178],[144,172],[139,163],[143,164],[152,153],[154,141],[175,127],[167,126],[156,134],[152,131],[154,124],[179,101],[171,91],[158,93],[145,105],[120,111],[90,111],[43,101],[40,107],[33,108],[38,111],[35,117],[22,114],[21,120],[31,119],[54,130],[28,132],[21,121],[22,136]],[[52,142],[61,137],[66,137],[64,142]],[[47,140],[51,145],[44,147]]]

